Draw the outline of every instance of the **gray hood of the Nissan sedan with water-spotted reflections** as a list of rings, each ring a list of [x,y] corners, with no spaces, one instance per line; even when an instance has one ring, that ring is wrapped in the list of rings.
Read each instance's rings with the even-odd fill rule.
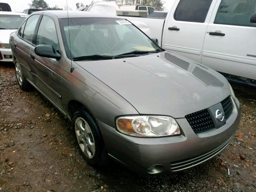
[[[183,118],[231,94],[224,76],[167,51],[76,63],[120,94],[140,114]]]

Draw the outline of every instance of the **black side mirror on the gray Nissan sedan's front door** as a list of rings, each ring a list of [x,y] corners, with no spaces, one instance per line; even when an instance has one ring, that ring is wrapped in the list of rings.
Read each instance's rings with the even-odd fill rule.
[[[50,45],[38,45],[35,47],[35,53],[41,57],[54,58],[59,60],[61,55],[57,53]]]

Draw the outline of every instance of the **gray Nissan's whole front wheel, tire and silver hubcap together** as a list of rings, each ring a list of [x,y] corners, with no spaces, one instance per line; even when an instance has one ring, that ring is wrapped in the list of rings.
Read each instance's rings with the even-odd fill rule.
[[[78,108],[73,114],[72,124],[84,159],[93,166],[105,165],[108,153],[100,129],[90,112],[85,107]]]

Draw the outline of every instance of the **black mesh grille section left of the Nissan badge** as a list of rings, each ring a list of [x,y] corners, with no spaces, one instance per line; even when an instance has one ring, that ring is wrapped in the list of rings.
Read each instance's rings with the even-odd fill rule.
[[[214,128],[212,118],[207,109],[186,115],[185,118],[195,133],[204,132]]]

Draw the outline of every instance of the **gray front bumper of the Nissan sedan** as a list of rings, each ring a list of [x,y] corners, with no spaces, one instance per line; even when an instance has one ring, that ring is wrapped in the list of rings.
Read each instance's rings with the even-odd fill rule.
[[[176,119],[182,134],[162,138],[126,136],[98,121],[108,154],[139,173],[170,173],[196,166],[220,153],[232,141],[240,123],[240,104],[233,102],[233,112],[226,124],[199,134],[185,118]],[[156,171],[148,170],[157,165]],[[154,167],[152,167],[154,168]]]

